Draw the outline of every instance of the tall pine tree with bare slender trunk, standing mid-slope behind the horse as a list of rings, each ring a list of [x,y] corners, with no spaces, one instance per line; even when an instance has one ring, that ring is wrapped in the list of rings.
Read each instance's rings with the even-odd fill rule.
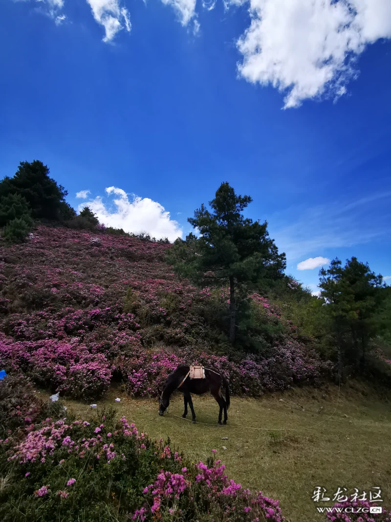
[[[279,277],[286,267],[285,254],[278,254],[267,232],[267,222],[243,217],[250,196],[238,196],[228,183],[222,183],[215,198],[204,204],[188,221],[200,236],[190,233],[177,240],[168,262],[178,274],[209,286],[229,284],[229,340],[235,343],[237,287],[249,287],[261,277]]]

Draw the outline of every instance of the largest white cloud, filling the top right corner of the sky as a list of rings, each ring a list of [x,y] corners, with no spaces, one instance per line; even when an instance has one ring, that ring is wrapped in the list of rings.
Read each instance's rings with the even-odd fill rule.
[[[246,0],[230,0],[240,5]],[[239,73],[287,92],[285,108],[346,92],[366,44],[391,38],[390,0],[249,0]]]

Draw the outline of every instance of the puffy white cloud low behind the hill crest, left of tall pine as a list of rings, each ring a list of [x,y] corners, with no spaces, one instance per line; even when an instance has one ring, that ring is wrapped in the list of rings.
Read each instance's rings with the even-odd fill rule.
[[[88,201],[90,209],[106,226],[123,228],[125,232],[148,232],[156,239],[168,238],[170,241],[182,236],[179,223],[171,219],[170,213],[157,201],[135,195],[129,201],[128,194],[117,187],[107,187],[106,194],[117,196],[113,200],[114,207],[104,203],[100,196]],[[85,205],[80,204],[79,211]]]

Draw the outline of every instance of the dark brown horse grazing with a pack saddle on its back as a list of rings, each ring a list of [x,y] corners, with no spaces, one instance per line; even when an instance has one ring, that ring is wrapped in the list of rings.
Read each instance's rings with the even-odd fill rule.
[[[164,412],[170,404],[170,396],[176,389],[184,394],[185,411],[182,417],[187,416],[187,405],[190,406],[192,421],[196,422],[196,413],[194,413],[193,402],[191,400],[191,393],[202,395],[211,392],[216,399],[220,411],[218,413],[218,423],[222,424],[222,416],[224,410],[224,422],[227,424],[227,409],[229,408],[229,388],[227,379],[213,370],[204,368],[205,378],[191,379],[188,375],[190,366],[178,366],[173,373],[170,373],[166,379],[163,392],[159,392],[159,415],[164,415]],[[187,376],[186,376],[187,375]],[[186,377],[186,378],[185,378]],[[185,379],[185,380],[184,380]],[[225,389],[225,399],[222,394],[222,389]]]

